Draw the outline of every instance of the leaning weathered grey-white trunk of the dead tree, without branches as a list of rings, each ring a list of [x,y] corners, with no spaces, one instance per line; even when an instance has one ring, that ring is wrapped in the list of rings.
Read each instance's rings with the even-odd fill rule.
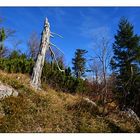
[[[41,87],[42,68],[44,66],[45,55],[46,51],[49,49],[49,45],[50,45],[50,25],[48,19],[46,18],[41,37],[39,53],[31,76],[31,85],[35,89],[39,89]]]

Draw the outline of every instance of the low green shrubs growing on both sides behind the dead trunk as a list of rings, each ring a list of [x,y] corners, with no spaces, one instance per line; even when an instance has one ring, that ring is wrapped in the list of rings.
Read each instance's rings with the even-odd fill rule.
[[[45,61],[42,71],[43,83],[50,85],[56,90],[72,94],[85,94],[90,91],[85,80],[74,77],[71,69],[69,67],[65,68],[61,61],[59,65],[61,69],[65,69],[65,72],[60,72],[56,63]],[[33,66],[34,60],[27,58],[25,54],[21,54],[19,51],[13,51],[7,58],[0,58],[0,69],[8,73],[31,74]]]

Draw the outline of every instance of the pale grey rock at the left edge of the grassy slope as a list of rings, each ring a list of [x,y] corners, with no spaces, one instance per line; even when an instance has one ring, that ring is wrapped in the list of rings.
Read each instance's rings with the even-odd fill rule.
[[[18,92],[8,85],[4,85],[0,81],[0,99],[3,99],[8,96],[18,96]]]

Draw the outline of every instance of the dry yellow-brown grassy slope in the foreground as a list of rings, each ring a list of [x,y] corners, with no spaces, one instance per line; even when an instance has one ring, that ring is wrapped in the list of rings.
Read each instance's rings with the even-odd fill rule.
[[[132,123],[121,122],[117,116],[108,119],[91,112],[78,95],[56,92],[47,85],[34,91],[26,75],[0,71],[0,80],[19,92],[18,97],[0,101],[0,132],[136,131]]]

